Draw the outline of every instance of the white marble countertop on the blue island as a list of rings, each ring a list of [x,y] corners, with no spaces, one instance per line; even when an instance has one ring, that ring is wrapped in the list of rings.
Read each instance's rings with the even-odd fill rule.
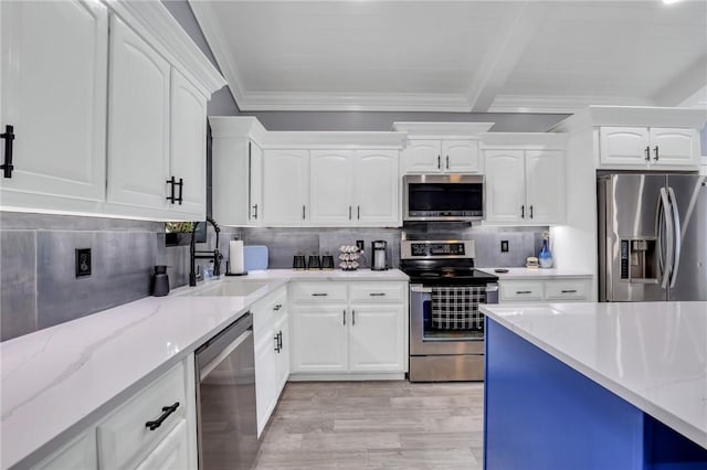
[[[707,448],[707,302],[546,303],[481,310]]]

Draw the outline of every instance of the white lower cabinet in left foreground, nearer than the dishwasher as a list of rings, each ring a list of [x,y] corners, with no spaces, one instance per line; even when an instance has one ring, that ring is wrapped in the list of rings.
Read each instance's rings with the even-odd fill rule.
[[[194,397],[190,355],[34,468],[197,468]]]

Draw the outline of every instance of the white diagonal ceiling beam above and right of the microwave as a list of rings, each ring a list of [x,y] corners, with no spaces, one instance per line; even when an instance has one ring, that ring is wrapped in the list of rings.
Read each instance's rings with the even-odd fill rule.
[[[488,111],[528,42],[541,26],[550,3],[526,0],[498,28],[498,35],[489,44],[467,92],[472,111]]]

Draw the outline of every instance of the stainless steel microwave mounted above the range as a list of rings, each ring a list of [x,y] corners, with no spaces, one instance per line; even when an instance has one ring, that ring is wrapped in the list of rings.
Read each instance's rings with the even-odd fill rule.
[[[481,221],[484,177],[408,174],[403,177],[403,221]]]

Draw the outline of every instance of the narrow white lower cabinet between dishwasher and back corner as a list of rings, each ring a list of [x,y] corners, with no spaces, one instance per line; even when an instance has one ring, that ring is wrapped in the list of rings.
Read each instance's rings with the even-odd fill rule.
[[[252,308],[255,342],[257,435],[265,429],[289,376],[289,334],[285,287]]]

